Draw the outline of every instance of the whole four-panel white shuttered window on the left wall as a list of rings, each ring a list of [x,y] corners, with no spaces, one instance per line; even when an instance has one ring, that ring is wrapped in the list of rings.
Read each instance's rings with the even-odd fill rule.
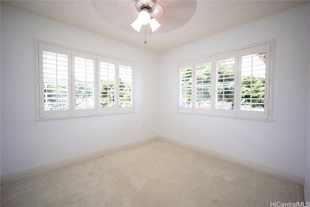
[[[133,111],[133,63],[37,41],[40,118]]]

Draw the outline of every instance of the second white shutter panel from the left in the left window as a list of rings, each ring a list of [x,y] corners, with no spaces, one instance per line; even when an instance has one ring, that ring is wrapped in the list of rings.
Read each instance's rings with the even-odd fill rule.
[[[95,55],[72,50],[73,115],[96,113]]]

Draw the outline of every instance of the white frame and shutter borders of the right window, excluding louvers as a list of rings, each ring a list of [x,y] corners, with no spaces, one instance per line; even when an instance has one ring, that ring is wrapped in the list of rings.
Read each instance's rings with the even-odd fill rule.
[[[210,55],[206,55],[200,58],[194,58],[186,61],[181,61],[178,63],[178,112],[188,112],[193,114],[202,114],[202,115],[215,115],[215,116],[226,116],[226,117],[235,117],[235,118],[246,118],[246,119],[256,119],[263,121],[272,121],[272,77],[273,77],[273,64],[274,64],[274,44],[275,40],[267,40],[260,43],[235,48],[223,52],[218,52]],[[256,48],[266,48],[266,61],[265,61],[265,88],[264,88],[264,110],[261,111],[246,111],[241,110],[241,60],[248,51],[255,50]],[[260,49],[258,49],[260,50]],[[246,53],[242,53],[246,52]],[[235,58],[234,66],[234,97],[233,97],[233,109],[217,109],[216,108],[216,78],[217,78],[217,61],[223,60],[225,58],[229,59],[230,57]],[[197,66],[210,62],[211,63],[211,107],[210,108],[198,108],[196,105],[196,95],[197,95]],[[191,107],[187,107],[184,110],[184,107],[180,106],[180,68],[182,65],[187,65],[192,67],[192,103]]]

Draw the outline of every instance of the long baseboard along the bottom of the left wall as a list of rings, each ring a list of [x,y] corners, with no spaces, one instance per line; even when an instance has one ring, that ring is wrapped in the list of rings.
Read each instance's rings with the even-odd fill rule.
[[[61,167],[61,166],[64,166],[64,165],[72,164],[72,163],[75,163],[75,162],[78,162],[78,161],[82,161],[84,159],[90,159],[90,158],[97,157],[97,156],[100,156],[100,155],[103,155],[103,154],[107,154],[107,153],[110,153],[110,152],[114,152],[114,151],[117,151],[117,150],[122,150],[122,149],[125,149],[125,148],[128,148],[128,147],[132,147],[132,146],[135,146],[135,145],[138,145],[138,144],[151,142],[151,141],[154,141],[156,139],[158,139],[157,136],[150,137],[150,138],[139,140],[139,141],[136,141],[136,142],[126,143],[126,144],[123,144],[123,145],[120,145],[120,146],[117,146],[117,147],[112,147],[112,148],[109,148],[109,149],[100,150],[100,151],[89,153],[89,154],[86,154],[86,155],[81,155],[81,156],[78,156],[78,157],[75,157],[75,158],[65,159],[65,160],[62,160],[62,161],[53,162],[53,163],[50,163],[50,164],[46,164],[46,165],[42,165],[42,166],[31,168],[31,169],[19,171],[19,172],[12,173],[12,174],[9,174],[9,175],[1,175],[1,178],[0,178],[1,179],[1,183],[2,182],[7,182],[7,181],[10,181],[10,180],[14,180],[14,179],[17,179],[17,178],[20,178],[20,177],[24,177],[24,176],[27,176],[27,175],[32,175],[32,174],[40,173],[40,172],[43,172],[43,171],[47,171],[47,170],[50,170],[50,169],[53,169],[53,168],[57,168],[57,167]]]

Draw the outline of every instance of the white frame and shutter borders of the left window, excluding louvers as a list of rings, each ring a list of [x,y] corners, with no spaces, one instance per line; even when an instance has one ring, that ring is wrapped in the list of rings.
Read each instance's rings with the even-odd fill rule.
[[[84,117],[84,116],[93,116],[93,115],[104,115],[104,114],[119,114],[119,113],[131,113],[135,112],[135,104],[134,104],[134,62],[110,57],[107,55],[102,55],[95,52],[89,52],[82,49],[71,48],[43,40],[35,39],[35,65],[36,65],[36,81],[37,81],[37,120],[47,120],[47,119],[58,119],[58,118],[73,118],[73,117]],[[51,47],[51,48],[60,48],[60,50],[66,51],[68,54],[68,110],[44,110],[44,85],[43,85],[43,47]],[[93,60],[94,64],[94,87],[93,87],[93,99],[94,99],[94,107],[90,109],[77,109],[75,104],[75,58],[85,58],[88,60]],[[108,61],[109,63],[113,63],[115,70],[115,84],[114,87],[116,90],[114,91],[113,98],[114,106],[112,108],[102,108],[100,107],[100,95],[101,95],[101,84],[100,84],[100,76],[99,76],[99,63]],[[129,77],[131,78],[131,84],[129,86],[130,98],[129,98],[129,106],[128,107],[117,107],[120,105],[119,103],[119,66],[120,65],[128,65],[131,70],[131,74]],[[86,93],[86,92],[85,92]],[[58,103],[58,102],[57,102]]]

